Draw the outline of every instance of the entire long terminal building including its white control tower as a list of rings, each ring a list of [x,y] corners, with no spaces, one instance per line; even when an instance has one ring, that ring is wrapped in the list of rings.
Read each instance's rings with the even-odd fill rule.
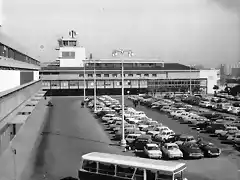
[[[168,92],[189,90],[213,93],[220,79],[219,70],[199,70],[179,63],[166,63],[160,59],[87,59],[85,48],[77,39],[58,40],[59,57],[42,67],[40,76],[45,89],[94,89],[94,74],[98,94],[119,94],[124,67],[126,92]],[[94,73],[95,72],[95,73]],[[84,78],[85,74],[85,78]],[[191,88],[190,88],[191,87]]]

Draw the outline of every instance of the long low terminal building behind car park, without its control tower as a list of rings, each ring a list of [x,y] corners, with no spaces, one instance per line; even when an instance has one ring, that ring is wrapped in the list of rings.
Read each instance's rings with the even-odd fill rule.
[[[96,87],[112,91],[121,90],[120,59],[95,61]],[[85,61],[84,67],[43,67],[40,77],[46,89],[94,88],[94,63]],[[190,69],[178,63],[163,63],[159,60],[124,60],[124,87],[134,91],[201,91],[213,93],[219,75],[217,70]],[[84,78],[85,72],[85,78]],[[85,79],[85,80],[84,80]],[[191,88],[190,88],[191,87]]]

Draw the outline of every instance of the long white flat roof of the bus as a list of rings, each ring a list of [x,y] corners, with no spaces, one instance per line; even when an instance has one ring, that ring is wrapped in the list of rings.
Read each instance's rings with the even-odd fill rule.
[[[108,154],[101,152],[92,152],[82,156],[82,159],[105,162],[117,165],[128,165],[132,167],[139,167],[143,169],[154,169],[167,174],[173,174],[181,170],[186,169],[185,163],[173,162],[173,161],[163,161],[163,160],[153,160],[133,156],[124,156],[118,154]]]

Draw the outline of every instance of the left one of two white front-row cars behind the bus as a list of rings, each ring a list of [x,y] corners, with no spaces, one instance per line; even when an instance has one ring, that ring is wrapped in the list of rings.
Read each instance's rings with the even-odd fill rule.
[[[157,144],[149,143],[144,146],[144,154],[148,158],[160,159],[162,158],[162,151]]]

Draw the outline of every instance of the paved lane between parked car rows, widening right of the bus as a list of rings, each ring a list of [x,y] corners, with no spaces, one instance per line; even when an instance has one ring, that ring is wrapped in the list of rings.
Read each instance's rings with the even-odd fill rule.
[[[120,98],[119,98],[120,100]],[[125,104],[133,106],[132,101],[125,100]],[[144,111],[148,117],[157,120],[173,129],[176,133],[184,133],[197,136],[197,131],[192,130],[186,124],[180,124],[178,121],[168,118],[165,114],[155,111],[144,106],[138,106],[137,110]],[[240,153],[235,151],[231,146],[221,144],[217,138],[210,137],[207,134],[201,134],[202,137],[208,141],[213,142],[223,149],[221,157],[205,158],[202,160],[185,161],[188,166],[189,179],[195,175],[200,176],[197,179],[206,180],[239,180],[240,179]],[[194,174],[194,175],[193,175]],[[194,177],[196,179],[196,177]]]

